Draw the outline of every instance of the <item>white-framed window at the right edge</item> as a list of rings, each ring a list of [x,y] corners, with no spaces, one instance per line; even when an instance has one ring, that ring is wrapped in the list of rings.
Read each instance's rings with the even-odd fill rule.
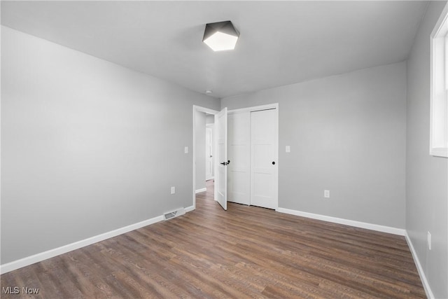
[[[448,157],[448,4],[431,34],[430,155]]]

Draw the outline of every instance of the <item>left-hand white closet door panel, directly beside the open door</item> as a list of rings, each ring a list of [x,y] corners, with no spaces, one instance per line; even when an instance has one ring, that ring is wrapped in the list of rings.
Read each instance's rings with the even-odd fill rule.
[[[251,113],[228,116],[228,201],[251,204]]]

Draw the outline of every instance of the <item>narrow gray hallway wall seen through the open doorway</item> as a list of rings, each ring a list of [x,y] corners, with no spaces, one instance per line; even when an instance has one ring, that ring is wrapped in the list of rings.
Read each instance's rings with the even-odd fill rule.
[[[195,155],[196,185],[195,190],[205,188],[205,123],[206,114],[196,111],[195,119]]]

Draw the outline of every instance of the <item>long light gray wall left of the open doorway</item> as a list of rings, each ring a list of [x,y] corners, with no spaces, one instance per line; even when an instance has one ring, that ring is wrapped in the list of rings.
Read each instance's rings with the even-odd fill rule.
[[[1,27],[1,263],[193,205],[193,104],[219,108]]]

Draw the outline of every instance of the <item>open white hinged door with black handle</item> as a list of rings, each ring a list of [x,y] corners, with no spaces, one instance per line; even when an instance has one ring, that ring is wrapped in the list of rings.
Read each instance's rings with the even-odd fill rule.
[[[215,200],[227,210],[227,108],[215,114]]]

